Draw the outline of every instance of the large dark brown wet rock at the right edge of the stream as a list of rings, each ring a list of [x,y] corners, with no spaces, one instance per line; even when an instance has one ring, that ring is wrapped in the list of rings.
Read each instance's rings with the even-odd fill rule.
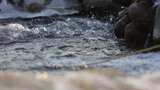
[[[124,38],[128,47],[142,48],[148,46],[146,43],[151,43],[154,17],[152,6],[152,0],[136,1],[116,23],[115,35]]]

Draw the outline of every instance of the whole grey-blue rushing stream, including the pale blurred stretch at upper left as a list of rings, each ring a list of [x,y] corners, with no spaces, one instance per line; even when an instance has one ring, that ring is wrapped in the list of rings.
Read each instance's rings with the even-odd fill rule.
[[[159,52],[128,56],[131,51],[116,40],[109,20],[50,16],[76,13],[70,7],[77,6],[77,1],[54,0],[43,13],[13,10],[4,1],[0,8],[8,8],[0,12],[0,18],[5,18],[0,22],[12,24],[0,26],[0,70],[65,72],[116,68],[131,75],[160,70]],[[37,16],[47,17],[33,18]],[[6,19],[10,17],[25,19]]]

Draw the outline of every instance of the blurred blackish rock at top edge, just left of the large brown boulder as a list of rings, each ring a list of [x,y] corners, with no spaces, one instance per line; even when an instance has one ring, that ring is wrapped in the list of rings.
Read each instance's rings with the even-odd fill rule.
[[[82,13],[106,15],[117,14],[117,11],[121,7],[112,2],[112,0],[83,0],[82,1]]]

